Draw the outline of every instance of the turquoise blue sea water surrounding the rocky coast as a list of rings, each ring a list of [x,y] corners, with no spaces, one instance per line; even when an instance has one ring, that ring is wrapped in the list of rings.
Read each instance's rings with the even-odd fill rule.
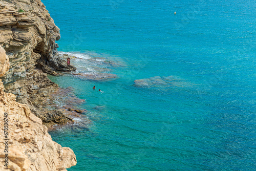
[[[93,121],[50,133],[76,154],[68,170],[256,170],[255,1],[42,2],[59,51],[126,65],[109,81],[49,76]],[[154,76],[186,83],[134,86]]]

